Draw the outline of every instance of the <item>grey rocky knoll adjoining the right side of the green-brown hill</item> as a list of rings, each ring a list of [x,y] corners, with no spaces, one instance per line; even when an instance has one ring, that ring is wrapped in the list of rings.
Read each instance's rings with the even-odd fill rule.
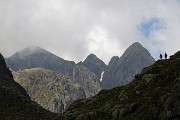
[[[99,78],[83,65],[75,67],[73,79],[83,88],[86,98],[96,95],[102,89]]]

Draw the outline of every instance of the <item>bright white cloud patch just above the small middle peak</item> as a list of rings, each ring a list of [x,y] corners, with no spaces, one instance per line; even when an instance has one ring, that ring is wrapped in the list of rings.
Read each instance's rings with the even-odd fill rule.
[[[99,26],[95,26],[94,29],[90,31],[86,41],[88,50],[95,53],[107,64],[112,55],[122,54],[122,51],[119,49],[118,41],[111,38],[108,32]]]

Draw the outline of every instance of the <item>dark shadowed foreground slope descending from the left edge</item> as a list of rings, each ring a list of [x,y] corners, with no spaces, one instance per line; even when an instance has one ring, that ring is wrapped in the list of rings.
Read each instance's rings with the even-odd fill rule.
[[[16,83],[0,54],[0,116],[2,120],[54,120],[56,114],[31,101]]]

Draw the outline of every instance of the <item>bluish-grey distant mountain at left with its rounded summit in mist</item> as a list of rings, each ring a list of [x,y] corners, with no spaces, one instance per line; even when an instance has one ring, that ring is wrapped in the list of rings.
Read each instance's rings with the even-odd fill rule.
[[[66,61],[42,48],[31,46],[6,59],[13,71],[41,67],[72,76],[75,62]]]

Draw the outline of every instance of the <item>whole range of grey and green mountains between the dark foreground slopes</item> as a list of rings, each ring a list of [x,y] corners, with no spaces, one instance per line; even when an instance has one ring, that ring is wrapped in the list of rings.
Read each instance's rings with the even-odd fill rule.
[[[112,57],[108,65],[94,54],[76,64],[36,46],[6,58],[15,80],[31,99],[58,114],[77,99],[128,84],[154,61],[140,43],[132,44],[120,58]]]

